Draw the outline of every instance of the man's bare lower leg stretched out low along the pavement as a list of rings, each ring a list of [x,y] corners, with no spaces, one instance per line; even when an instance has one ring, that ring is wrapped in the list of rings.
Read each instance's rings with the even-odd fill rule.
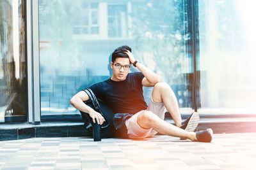
[[[191,141],[196,141],[196,133],[188,132],[176,127],[175,125],[165,122],[161,118],[157,117],[151,111],[143,111],[138,115],[137,119],[140,127],[144,129],[150,129],[151,127],[159,132],[160,134],[166,134],[168,136],[175,136],[180,138],[190,139]]]

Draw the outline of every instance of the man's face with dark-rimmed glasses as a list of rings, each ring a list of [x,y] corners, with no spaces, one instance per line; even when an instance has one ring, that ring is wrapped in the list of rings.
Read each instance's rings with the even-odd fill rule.
[[[113,69],[113,76],[111,79],[114,81],[125,80],[127,74],[129,73],[130,66],[129,58],[116,58],[115,62],[111,62],[111,69]]]

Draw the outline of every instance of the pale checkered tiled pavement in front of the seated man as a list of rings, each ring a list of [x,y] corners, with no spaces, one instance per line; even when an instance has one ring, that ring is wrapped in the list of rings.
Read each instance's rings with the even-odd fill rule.
[[[0,169],[256,169],[256,133],[214,134],[212,143],[30,138],[0,141]]]

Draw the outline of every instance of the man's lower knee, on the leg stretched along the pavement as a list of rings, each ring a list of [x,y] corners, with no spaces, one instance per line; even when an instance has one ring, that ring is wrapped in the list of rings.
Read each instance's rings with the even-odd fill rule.
[[[144,129],[149,129],[152,127],[152,122],[154,121],[154,116],[156,116],[152,111],[142,111],[140,115],[138,115],[137,123],[140,127]]]

